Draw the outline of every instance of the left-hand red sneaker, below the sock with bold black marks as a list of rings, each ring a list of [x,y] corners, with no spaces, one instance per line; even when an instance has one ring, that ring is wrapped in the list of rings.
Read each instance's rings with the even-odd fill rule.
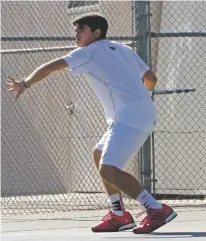
[[[110,211],[103,217],[99,225],[92,228],[92,231],[95,233],[117,232],[132,229],[134,227],[136,227],[136,224],[129,212],[125,211],[123,216],[118,216]]]

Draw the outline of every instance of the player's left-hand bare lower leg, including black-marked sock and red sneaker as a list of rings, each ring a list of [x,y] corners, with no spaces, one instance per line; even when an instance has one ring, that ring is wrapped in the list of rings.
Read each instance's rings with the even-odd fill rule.
[[[95,149],[93,156],[97,169],[99,170],[99,162],[101,159],[102,151]],[[106,181],[103,177],[102,182],[104,184],[105,192],[108,194],[112,211],[103,217],[102,222],[93,227],[93,232],[116,232],[121,230],[127,230],[136,227],[131,214],[124,209],[122,200],[122,194],[120,189],[115,185]]]

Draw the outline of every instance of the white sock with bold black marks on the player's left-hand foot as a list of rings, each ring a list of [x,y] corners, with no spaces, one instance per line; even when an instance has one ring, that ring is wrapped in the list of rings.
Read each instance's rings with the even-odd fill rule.
[[[116,194],[109,195],[109,199],[112,206],[112,212],[118,216],[123,216],[123,212],[125,209],[124,209],[124,204],[122,200],[122,194],[116,193]]]

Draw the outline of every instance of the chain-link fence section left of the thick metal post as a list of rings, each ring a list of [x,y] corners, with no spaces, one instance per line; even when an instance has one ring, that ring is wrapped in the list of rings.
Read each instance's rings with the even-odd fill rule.
[[[3,2],[3,79],[21,78],[66,55],[75,45],[72,21],[94,11],[105,14],[110,26],[115,14],[108,35],[131,44],[131,3]],[[107,125],[85,77],[58,72],[18,102],[3,86],[2,98],[3,214],[108,207],[92,160]],[[127,167],[137,177],[138,160],[137,155]]]

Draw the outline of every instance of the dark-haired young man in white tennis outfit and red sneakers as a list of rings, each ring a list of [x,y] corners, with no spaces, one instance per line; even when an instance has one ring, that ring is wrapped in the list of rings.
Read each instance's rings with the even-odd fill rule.
[[[157,202],[123,168],[154,130],[156,109],[149,91],[156,85],[156,76],[131,48],[105,40],[108,24],[104,17],[87,15],[73,24],[78,48],[41,65],[23,81],[9,77],[8,90],[15,91],[18,99],[34,83],[66,68],[90,77],[108,123],[93,154],[112,206],[112,211],[92,231],[115,232],[133,228],[136,234],[150,233],[177,214],[169,206]],[[147,216],[139,227],[125,211],[121,191],[146,208]]]

